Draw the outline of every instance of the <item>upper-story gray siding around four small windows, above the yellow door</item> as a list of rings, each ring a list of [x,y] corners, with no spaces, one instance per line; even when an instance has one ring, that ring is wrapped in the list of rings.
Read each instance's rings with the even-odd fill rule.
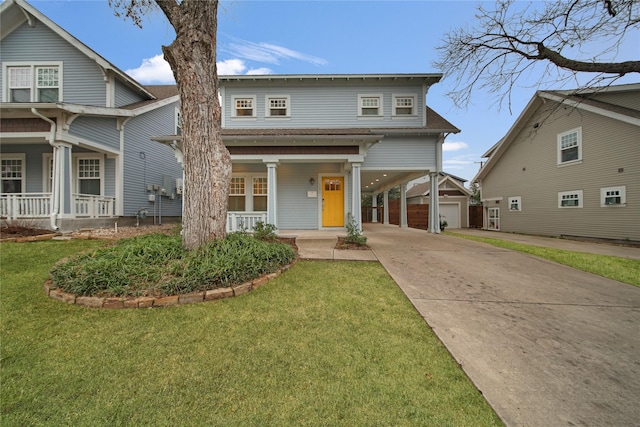
[[[351,84],[332,82],[318,84],[295,84],[243,86],[222,83],[224,87],[223,123],[225,128],[376,128],[376,127],[419,127],[424,115],[422,85],[378,86],[375,84]],[[264,84],[264,83],[263,83]],[[358,117],[358,95],[383,95],[384,117]],[[271,95],[290,97],[290,117],[265,117],[266,99]],[[416,114],[407,118],[392,116],[394,95],[415,95]],[[233,98],[236,96],[256,97],[256,117],[232,117]]]

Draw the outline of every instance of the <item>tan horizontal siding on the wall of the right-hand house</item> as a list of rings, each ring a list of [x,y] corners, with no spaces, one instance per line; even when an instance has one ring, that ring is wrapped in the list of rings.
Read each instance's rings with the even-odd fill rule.
[[[502,231],[640,241],[640,128],[588,111],[534,115],[482,181]],[[582,162],[557,165],[557,135],[582,127]],[[600,189],[626,186],[626,207],[601,207]],[[582,208],[558,208],[558,193],[583,191]],[[522,211],[508,198],[522,197]]]

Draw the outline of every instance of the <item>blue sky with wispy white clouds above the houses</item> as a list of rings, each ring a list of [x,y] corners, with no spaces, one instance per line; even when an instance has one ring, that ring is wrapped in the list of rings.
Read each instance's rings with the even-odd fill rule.
[[[161,12],[143,28],[114,16],[107,0],[30,1],[66,31],[143,84],[173,83],[161,45],[174,31]],[[220,74],[433,73],[436,46],[452,28],[473,25],[475,1],[224,1],[218,18]],[[492,2],[482,3],[491,7]],[[640,57],[636,31],[618,60]],[[638,82],[630,76],[619,83]],[[445,96],[453,83],[434,85],[428,105],[460,128],[448,136],[443,168],[467,180],[481,155],[508,131],[536,89],[522,81],[511,112],[477,92],[467,109]]]

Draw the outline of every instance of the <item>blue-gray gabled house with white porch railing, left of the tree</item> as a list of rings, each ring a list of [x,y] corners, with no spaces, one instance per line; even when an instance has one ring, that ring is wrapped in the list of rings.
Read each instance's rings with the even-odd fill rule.
[[[143,86],[23,0],[0,5],[0,217],[68,231],[181,215],[175,86]]]

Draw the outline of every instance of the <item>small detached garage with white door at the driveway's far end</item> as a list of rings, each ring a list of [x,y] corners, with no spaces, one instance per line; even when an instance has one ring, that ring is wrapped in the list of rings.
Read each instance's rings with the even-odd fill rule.
[[[431,180],[416,184],[407,190],[407,204],[426,204],[430,202]],[[445,172],[438,174],[438,204],[441,219],[446,220],[448,228],[469,227],[469,198],[471,191],[465,188],[466,179]]]

